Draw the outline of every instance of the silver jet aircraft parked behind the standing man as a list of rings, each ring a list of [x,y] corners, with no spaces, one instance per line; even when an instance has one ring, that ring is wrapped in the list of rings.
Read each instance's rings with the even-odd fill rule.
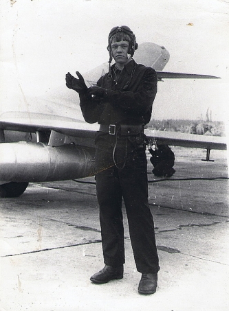
[[[165,47],[154,43],[139,45],[134,59],[155,69],[159,81],[165,78],[218,78],[162,71],[169,60],[169,53]],[[85,76],[88,85],[96,83],[94,81],[107,71],[107,67],[106,63],[89,71]],[[71,90],[66,88],[66,92]],[[94,135],[98,124],[86,124],[80,108],[74,107],[74,115],[80,116],[78,119],[32,111],[9,111],[0,115],[0,197],[20,196],[30,182],[63,181],[96,173]],[[170,133],[149,128],[144,133],[152,142],[205,148],[206,161],[210,161],[211,149],[226,150],[225,137]]]

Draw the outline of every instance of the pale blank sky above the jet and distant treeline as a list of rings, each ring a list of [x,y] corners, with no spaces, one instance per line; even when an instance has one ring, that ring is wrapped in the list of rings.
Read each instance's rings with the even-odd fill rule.
[[[213,121],[228,119],[229,1],[1,0],[0,12],[1,113],[67,116],[70,99],[72,117],[65,74],[108,62],[109,31],[128,25],[139,44],[166,47],[164,70],[221,77],[159,82],[154,119],[201,119],[207,110]]]

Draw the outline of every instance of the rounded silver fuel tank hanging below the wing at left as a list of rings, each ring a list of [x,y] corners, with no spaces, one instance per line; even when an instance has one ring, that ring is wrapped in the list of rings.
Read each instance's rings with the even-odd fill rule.
[[[64,181],[95,174],[95,150],[72,144],[0,143],[1,181]]]

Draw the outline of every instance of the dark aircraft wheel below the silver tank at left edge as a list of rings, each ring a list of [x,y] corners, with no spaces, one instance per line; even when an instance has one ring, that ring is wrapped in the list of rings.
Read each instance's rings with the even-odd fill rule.
[[[0,198],[17,198],[21,196],[25,189],[28,187],[29,183],[15,183],[11,181],[10,183],[4,183],[0,185]]]

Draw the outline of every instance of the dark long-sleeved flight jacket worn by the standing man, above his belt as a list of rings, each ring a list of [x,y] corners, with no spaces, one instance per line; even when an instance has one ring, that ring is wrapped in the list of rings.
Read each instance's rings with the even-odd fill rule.
[[[80,107],[85,121],[98,124],[147,124],[157,93],[157,74],[151,67],[131,60],[122,71],[111,66],[98,82],[105,89],[103,97],[80,95]]]

